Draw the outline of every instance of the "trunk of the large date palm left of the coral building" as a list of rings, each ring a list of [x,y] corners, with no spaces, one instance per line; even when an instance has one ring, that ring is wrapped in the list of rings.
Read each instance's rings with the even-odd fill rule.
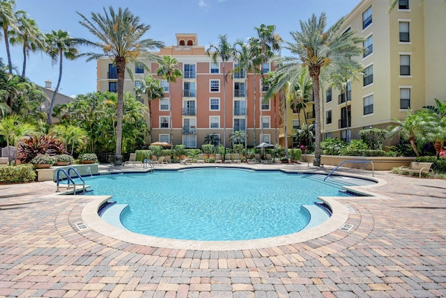
[[[116,157],[118,166],[121,165],[122,141],[123,141],[123,106],[124,106],[124,76],[125,58],[116,57],[116,72],[118,72],[118,105],[116,107]],[[121,156],[118,156],[121,155]]]

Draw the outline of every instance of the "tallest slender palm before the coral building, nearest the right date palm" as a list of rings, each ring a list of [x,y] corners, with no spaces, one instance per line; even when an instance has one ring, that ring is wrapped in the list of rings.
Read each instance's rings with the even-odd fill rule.
[[[279,52],[280,43],[282,42],[282,38],[280,38],[279,34],[275,33],[276,26],[261,24],[260,27],[254,27],[257,31],[257,38],[250,38],[249,41],[254,47],[259,49],[255,59],[256,65],[263,65],[263,63],[267,63],[270,61],[270,58],[274,56],[275,52]],[[263,77],[263,72],[262,72]],[[255,82],[254,82],[255,84]],[[254,85],[255,88],[255,85]],[[256,95],[254,90],[254,102],[256,101]],[[263,118],[263,109],[260,107],[260,120]],[[263,138],[263,123],[260,123],[261,136]],[[263,140],[262,140],[263,141]],[[255,143],[254,143],[255,145]]]

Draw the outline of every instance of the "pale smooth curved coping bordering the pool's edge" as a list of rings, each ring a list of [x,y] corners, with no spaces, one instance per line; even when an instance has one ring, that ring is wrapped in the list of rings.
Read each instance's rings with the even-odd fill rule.
[[[243,167],[249,168],[249,167]],[[256,168],[251,168],[256,171]],[[261,170],[263,171],[263,170]],[[284,171],[282,169],[272,171]],[[305,173],[305,171],[284,171],[285,173]],[[314,174],[315,172],[312,172]],[[356,187],[344,187],[349,191],[353,191],[357,194],[363,194],[365,196],[378,196],[371,192],[373,187],[379,187],[385,185],[385,180],[378,178],[364,178],[362,175],[346,175],[339,173],[338,175],[352,178],[362,178],[367,180],[374,180],[374,185],[363,185]],[[319,196],[318,199],[327,203],[331,210],[332,216],[322,224],[306,230],[301,230],[298,233],[292,233],[289,235],[282,235],[277,237],[268,237],[256,240],[237,240],[237,241],[196,241],[196,240],[176,240],[170,238],[153,237],[148,235],[141,235],[129,230],[123,230],[117,228],[112,224],[108,224],[106,221],[100,218],[98,210],[102,203],[108,201],[112,196],[84,196],[89,197],[93,201],[87,203],[82,210],[82,221],[84,224],[95,230],[96,232],[112,237],[116,240],[128,242],[132,244],[139,244],[144,246],[153,246],[167,249],[186,249],[186,250],[200,250],[200,251],[231,251],[231,250],[244,250],[244,249],[264,249],[273,246],[283,246],[288,244],[295,244],[305,242],[308,240],[314,240],[318,237],[328,235],[335,230],[338,230],[346,224],[348,220],[348,209],[341,201],[341,196]],[[383,197],[383,196],[380,196]],[[351,198],[351,197],[350,197]],[[358,197],[360,198],[360,197]]]

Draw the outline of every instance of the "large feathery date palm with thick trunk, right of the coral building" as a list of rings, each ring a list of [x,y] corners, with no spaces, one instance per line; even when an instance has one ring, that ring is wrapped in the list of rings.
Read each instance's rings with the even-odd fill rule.
[[[364,51],[363,38],[355,36],[354,31],[340,33],[345,17],[342,17],[327,31],[327,17],[321,13],[319,18],[312,15],[308,22],[300,21],[301,31],[291,32],[293,42],[286,42],[286,49],[295,54],[295,63],[302,63],[312,78],[314,109],[316,111],[316,138],[314,166],[321,165],[321,100],[319,97],[319,76],[322,68],[362,69],[362,65],[351,59]],[[291,58],[291,61],[293,59]]]

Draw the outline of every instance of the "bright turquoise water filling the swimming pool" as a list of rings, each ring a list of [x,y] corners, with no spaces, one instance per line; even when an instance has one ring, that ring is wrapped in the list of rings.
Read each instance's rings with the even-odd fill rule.
[[[180,240],[250,240],[296,233],[309,223],[301,205],[346,196],[318,175],[197,168],[86,178],[95,195],[128,204],[121,213],[135,233]]]

